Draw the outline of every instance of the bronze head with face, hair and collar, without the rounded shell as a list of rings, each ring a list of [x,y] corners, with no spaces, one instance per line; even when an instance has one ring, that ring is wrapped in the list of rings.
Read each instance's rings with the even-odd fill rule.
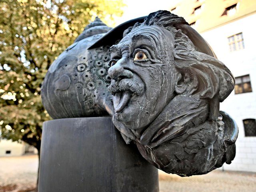
[[[234,78],[183,18],[150,14],[124,31],[110,64],[113,122],[144,158],[181,176],[231,162],[237,130],[219,102]]]

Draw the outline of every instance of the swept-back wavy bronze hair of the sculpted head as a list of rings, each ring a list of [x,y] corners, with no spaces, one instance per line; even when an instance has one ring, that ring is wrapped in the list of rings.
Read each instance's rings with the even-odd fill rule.
[[[234,77],[230,70],[216,58],[198,51],[179,24],[187,24],[184,18],[168,11],[149,14],[143,23],[136,23],[124,31],[124,36],[139,26],[157,25],[169,30],[174,36],[174,65],[181,74],[188,73],[191,83],[182,95],[199,94],[201,98],[218,96],[222,102],[234,89]],[[230,86],[231,85],[231,86]]]

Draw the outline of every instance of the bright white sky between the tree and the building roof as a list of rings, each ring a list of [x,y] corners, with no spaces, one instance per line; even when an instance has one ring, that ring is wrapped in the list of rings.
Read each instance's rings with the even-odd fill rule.
[[[123,8],[124,14],[116,19],[116,26],[128,20],[146,16],[158,10],[169,10],[171,5],[180,0],[124,0],[127,6]]]

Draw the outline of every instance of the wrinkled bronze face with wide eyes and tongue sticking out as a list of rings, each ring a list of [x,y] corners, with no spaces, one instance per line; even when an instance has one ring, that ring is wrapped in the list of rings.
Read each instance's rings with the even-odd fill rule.
[[[144,128],[174,97],[178,73],[173,65],[172,33],[158,26],[132,30],[111,48],[115,120],[126,128]]]

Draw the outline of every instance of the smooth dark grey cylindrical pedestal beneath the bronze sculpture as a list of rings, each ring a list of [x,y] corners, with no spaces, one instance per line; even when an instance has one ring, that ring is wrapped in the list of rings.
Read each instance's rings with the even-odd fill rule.
[[[39,192],[158,192],[158,170],[111,118],[44,122]]]

